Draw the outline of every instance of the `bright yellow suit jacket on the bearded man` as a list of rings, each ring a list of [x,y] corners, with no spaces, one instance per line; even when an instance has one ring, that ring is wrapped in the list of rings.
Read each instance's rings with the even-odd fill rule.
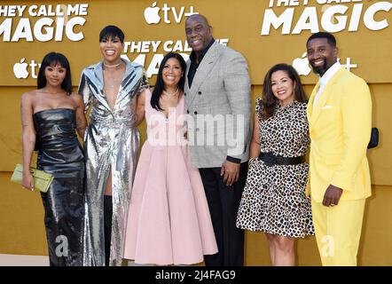
[[[341,200],[370,196],[366,147],[372,122],[372,99],[362,78],[344,67],[333,75],[313,109],[318,84],[308,104],[310,175],[307,193],[322,202],[328,185],[343,189]]]

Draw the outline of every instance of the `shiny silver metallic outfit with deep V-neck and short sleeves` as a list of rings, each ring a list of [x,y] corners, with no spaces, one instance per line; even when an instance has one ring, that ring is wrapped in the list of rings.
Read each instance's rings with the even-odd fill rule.
[[[135,126],[137,95],[148,87],[143,67],[124,62],[126,70],[113,109],[105,96],[102,61],[86,67],[79,84],[78,92],[83,97],[85,111],[91,107],[84,137],[84,266],[105,265],[104,193],[110,170],[113,196],[110,265],[122,265],[123,234],[139,146],[139,133]]]

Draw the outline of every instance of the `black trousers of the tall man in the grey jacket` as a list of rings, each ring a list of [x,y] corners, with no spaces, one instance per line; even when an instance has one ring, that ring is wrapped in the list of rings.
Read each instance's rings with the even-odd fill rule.
[[[247,180],[247,162],[239,168],[239,180],[231,186],[223,183],[221,168],[202,168],[201,180],[208,201],[219,252],[205,256],[207,266],[242,266],[244,231],[236,227],[239,201]]]

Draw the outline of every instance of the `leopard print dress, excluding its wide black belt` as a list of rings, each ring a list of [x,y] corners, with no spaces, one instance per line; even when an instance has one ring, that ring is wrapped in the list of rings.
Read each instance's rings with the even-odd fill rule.
[[[260,99],[255,112],[259,114]],[[260,117],[259,117],[260,120]],[[284,157],[306,154],[310,145],[306,103],[294,101],[259,121],[261,152]],[[255,159],[239,204],[237,227],[292,238],[313,235],[310,198],[305,195],[308,163],[267,166]]]

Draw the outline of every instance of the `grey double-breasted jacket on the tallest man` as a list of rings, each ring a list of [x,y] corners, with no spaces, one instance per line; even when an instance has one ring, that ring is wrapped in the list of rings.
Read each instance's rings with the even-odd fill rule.
[[[192,166],[221,167],[227,155],[249,156],[251,83],[247,61],[220,43],[208,49],[189,88],[187,61],[185,103]]]

